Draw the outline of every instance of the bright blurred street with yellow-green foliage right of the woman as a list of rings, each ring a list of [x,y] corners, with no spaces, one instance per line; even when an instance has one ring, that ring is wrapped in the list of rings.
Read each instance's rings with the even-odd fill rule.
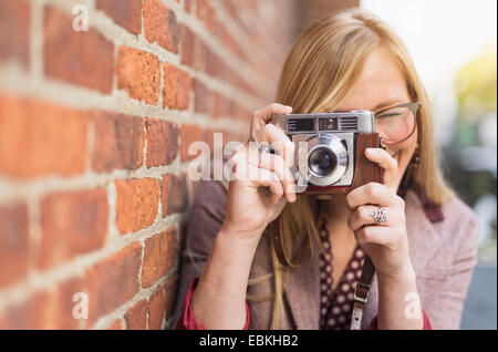
[[[479,218],[463,329],[496,329],[497,1],[362,0],[404,39],[434,107],[453,187]]]

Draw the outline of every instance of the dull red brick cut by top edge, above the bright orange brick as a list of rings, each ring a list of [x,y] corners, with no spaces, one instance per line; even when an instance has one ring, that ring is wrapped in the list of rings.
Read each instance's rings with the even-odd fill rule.
[[[142,0],[97,0],[96,8],[128,32],[142,33]]]

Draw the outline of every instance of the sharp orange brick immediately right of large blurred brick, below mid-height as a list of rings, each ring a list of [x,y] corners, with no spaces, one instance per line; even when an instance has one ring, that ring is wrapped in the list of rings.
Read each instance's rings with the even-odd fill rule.
[[[116,226],[121,234],[151,226],[157,217],[159,186],[154,178],[116,180]]]

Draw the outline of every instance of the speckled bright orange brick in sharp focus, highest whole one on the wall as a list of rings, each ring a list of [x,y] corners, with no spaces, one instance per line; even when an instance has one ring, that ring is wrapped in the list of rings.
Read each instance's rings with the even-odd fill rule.
[[[144,51],[121,46],[117,58],[117,87],[149,105],[157,105],[160,92],[160,63]]]

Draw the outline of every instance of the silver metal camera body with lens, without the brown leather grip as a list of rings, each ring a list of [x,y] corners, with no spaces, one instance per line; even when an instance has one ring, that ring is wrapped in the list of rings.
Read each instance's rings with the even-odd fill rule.
[[[273,115],[272,123],[294,142],[298,191],[308,186],[347,187],[355,170],[356,137],[374,133],[371,111]]]

